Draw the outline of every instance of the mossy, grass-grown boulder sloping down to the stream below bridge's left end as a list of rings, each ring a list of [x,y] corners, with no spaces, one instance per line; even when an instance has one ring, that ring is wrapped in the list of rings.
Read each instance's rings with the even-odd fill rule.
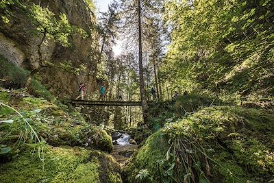
[[[23,90],[5,90],[0,88],[0,101],[18,110],[49,145],[87,146],[102,151],[112,150],[112,138],[96,125],[84,121],[77,110],[62,110],[45,99],[36,98]],[[14,123],[0,125],[2,143],[29,143],[29,127],[12,109],[0,106],[1,119],[13,119]],[[21,134],[25,138],[21,138]],[[2,138],[1,138],[2,137]]]

